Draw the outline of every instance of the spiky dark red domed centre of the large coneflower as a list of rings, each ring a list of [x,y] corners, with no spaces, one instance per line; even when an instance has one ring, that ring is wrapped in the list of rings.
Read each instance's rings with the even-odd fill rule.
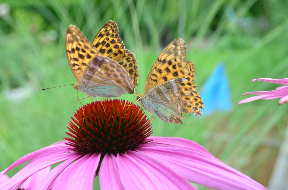
[[[140,107],[124,100],[92,102],[79,108],[74,116],[68,127],[70,137],[65,139],[81,154],[124,153],[137,148],[152,133]]]

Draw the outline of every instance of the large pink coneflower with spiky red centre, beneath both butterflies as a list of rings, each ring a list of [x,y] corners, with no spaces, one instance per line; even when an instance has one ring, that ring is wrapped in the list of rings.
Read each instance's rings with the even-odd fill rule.
[[[73,122],[72,122],[73,121]],[[151,137],[139,106],[120,100],[80,108],[68,128],[70,137],[32,152],[0,172],[29,161],[0,189],[16,189],[37,171],[60,163],[37,189],[266,189],[212,156],[199,144],[176,137]]]

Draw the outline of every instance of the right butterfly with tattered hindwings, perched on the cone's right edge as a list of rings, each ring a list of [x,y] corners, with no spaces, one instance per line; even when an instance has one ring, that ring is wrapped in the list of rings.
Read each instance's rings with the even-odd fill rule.
[[[148,74],[144,94],[137,93],[136,100],[140,100],[150,114],[156,113],[163,121],[184,124],[181,121],[184,119],[182,112],[194,113],[196,103],[191,98],[191,94],[194,94],[193,85],[190,87],[187,80],[190,77],[189,68],[185,42],[177,38],[156,59]],[[201,115],[201,112],[194,114]]]

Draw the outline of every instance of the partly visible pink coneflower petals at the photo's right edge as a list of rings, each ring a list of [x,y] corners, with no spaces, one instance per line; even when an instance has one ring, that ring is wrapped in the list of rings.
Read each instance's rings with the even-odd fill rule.
[[[288,78],[285,79],[270,79],[270,78],[260,78],[260,79],[253,79],[252,82],[255,82],[256,80],[258,81],[263,81],[263,82],[270,82],[270,83],[275,83],[275,84],[283,84],[283,85],[288,85]],[[288,102],[288,86],[280,86],[277,87],[276,90],[270,90],[270,91],[258,91],[258,92],[246,92],[243,94],[256,94],[259,96],[253,96],[250,98],[246,98],[244,100],[241,100],[238,105],[246,102],[252,102],[255,100],[271,100],[275,98],[281,98],[279,100],[279,104],[284,104]]]

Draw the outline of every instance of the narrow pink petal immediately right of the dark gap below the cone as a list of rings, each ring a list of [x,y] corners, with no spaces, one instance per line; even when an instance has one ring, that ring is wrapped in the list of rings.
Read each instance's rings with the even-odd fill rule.
[[[100,189],[124,189],[120,175],[122,171],[118,170],[116,157],[113,154],[105,154],[99,170]]]

